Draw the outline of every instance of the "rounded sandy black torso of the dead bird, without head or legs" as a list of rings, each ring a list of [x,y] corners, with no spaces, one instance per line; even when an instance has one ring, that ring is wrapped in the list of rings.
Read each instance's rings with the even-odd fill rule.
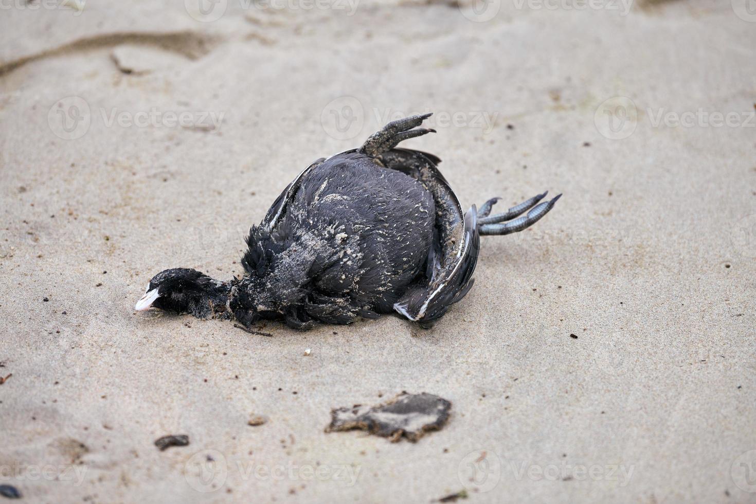
[[[258,313],[294,326],[390,313],[426,263],[434,223],[420,182],[342,153],[308,169],[271,230],[252,228],[242,283]]]

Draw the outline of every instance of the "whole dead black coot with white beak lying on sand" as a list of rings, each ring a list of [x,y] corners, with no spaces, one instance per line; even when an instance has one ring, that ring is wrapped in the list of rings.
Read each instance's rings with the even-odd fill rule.
[[[389,122],[362,147],[309,165],[249,230],[243,277],[162,271],[135,310],[234,319],[247,329],[260,319],[309,329],[395,311],[432,326],[472,287],[480,235],[526,229],[561,194],[494,215],[499,198],[463,212],[438,172],[441,159],[396,148],[435,132],[418,127],[430,115]]]

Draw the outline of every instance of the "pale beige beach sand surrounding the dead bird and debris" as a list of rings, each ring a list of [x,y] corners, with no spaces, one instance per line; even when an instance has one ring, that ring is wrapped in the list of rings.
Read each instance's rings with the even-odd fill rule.
[[[485,20],[231,0],[210,20],[187,0],[198,21],[82,3],[0,11],[0,484],[25,502],[756,502],[745,4],[493,2]],[[482,240],[434,329],[134,313],[167,267],[240,274],[301,169],[426,110],[438,133],[407,147],[464,205],[564,193]],[[324,432],[332,408],[401,391],[450,400],[445,428]],[[161,452],[167,434],[190,444]]]

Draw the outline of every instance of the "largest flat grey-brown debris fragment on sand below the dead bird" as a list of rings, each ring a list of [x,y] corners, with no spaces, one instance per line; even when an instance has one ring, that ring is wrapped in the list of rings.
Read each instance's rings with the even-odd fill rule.
[[[449,418],[451,402],[433,394],[402,392],[385,404],[331,410],[331,422],[326,432],[362,429],[391,438],[392,443],[402,436],[415,442],[428,431],[438,431]]]

